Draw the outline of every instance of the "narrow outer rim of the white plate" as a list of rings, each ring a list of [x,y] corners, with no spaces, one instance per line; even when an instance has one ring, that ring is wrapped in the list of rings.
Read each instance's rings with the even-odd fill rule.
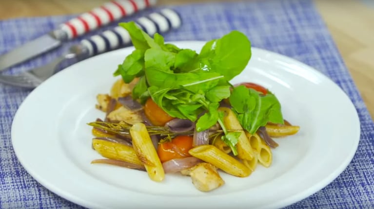
[[[182,44],[182,43],[184,44],[184,43],[188,43],[188,42],[197,43],[197,44],[205,44],[205,41],[199,41],[199,40],[197,40],[197,41],[194,41],[194,40],[169,41],[168,43],[174,43],[174,44],[177,45],[177,44]],[[114,50],[114,51],[111,51],[111,52],[106,52],[106,53],[103,53],[103,54],[116,53],[117,51],[122,51],[122,50],[125,50],[125,49],[131,49],[131,48],[134,48],[134,47],[133,46],[126,47],[126,48]],[[272,52],[272,51],[268,51],[268,50],[261,49],[261,48],[256,48],[256,47],[252,47],[252,50],[266,52],[266,53],[270,54],[272,57],[274,56],[274,57],[279,57],[279,58],[287,60],[287,61],[292,61],[293,63],[296,63],[298,66],[301,66],[302,68],[305,68],[306,70],[312,70],[313,73],[315,73],[317,76],[320,76],[320,77],[322,77],[325,80],[328,80],[332,85],[334,85],[335,87],[337,87],[345,95],[347,101],[349,101],[350,105],[354,108],[354,112],[355,112],[354,116],[355,116],[355,123],[356,123],[357,127],[355,127],[354,130],[357,131],[358,136],[356,136],[356,138],[357,138],[357,139],[355,139],[356,143],[355,143],[354,149],[351,150],[350,155],[345,158],[345,161],[340,164],[340,167],[338,169],[335,169],[335,173],[331,174],[331,176],[329,178],[325,177],[324,179],[322,179],[322,181],[319,181],[317,187],[314,187],[313,189],[309,189],[307,191],[299,192],[297,195],[290,196],[290,197],[288,197],[286,199],[283,199],[282,201],[277,201],[274,204],[268,205],[269,207],[285,207],[285,206],[291,205],[291,204],[293,204],[295,202],[301,201],[302,199],[307,198],[310,195],[314,194],[315,192],[323,189],[329,183],[331,183],[332,181],[334,181],[348,167],[348,165],[352,161],[352,159],[354,157],[354,154],[356,153],[357,148],[358,148],[359,139],[360,139],[360,128],[361,128],[360,126],[361,126],[361,124],[360,124],[360,120],[359,120],[359,117],[358,117],[358,113],[357,113],[356,107],[354,106],[351,98],[331,78],[329,78],[328,76],[326,76],[322,72],[316,70],[315,68],[313,68],[313,67],[311,67],[309,65],[306,65],[305,63],[302,63],[302,62],[300,62],[300,61],[298,61],[298,60],[296,60],[296,59],[294,59],[292,57],[288,57],[286,55],[283,55],[283,54],[280,54],[280,53],[277,53],[277,52]],[[99,54],[97,56],[85,59],[85,60],[83,60],[81,62],[90,62],[90,60],[96,59],[96,58],[98,58],[99,56],[101,56],[103,54]],[[79,63],[81,63],[81,62],[79,62]],[[78,63],[76,63],[76,64],[78,64]],[[74,68],[74,66],[76,64],[74,64],[72,66],[69,66],[67,69],[61,70],[60,72],[56,73],[55,75],[53,75],[49,79],[47,79],[47,81],[50,80],[51,78],[59,76],[59,74],[63,73],[63,71],[72,70],[72,68]],[[36,91],[37,89],[42,88],[45,85],[48,85],[48,82],[47,82],[47,84],[46,84],[46,82],[42,83],[39,87],[35,88],[29,95],[27,95],[27,97],[24,99],[24,101],[22,101],[22,103],[20,104],[20,106],[19,106],[19,108],[18,108],[18,110],[17,110],[17,112],[16,112],[16,114],[15,114],[15,116],[13,118],[12,127],[11,127],[11,140],[12,140],[12,146],[13,146],[14,152],[15,152],[15,154],[16,154],[19,162],[20,162],[20,164],[22,165],[23,169],[25,169],[27,171],[27,173],[30,174],[43,187],[45,187],[49,191],[51,191],[51,192],[59,195],[60,197],[65,198],[68,201],[76,203],[76,204],[78,204],[80,206],[88,206],[89,208],[96,208],[96,207],[98,207],[97,204],[91,205],[88,201],[81,201],[81,199],[79,199],[79,198],[75,198],[75,197],[72,198],[72,196],[66,195],[66,193],[60,192],[59,190],[56,191],[56,188],[53,188],[53,186],[48,185],[50,182],[48,182],[48,183],[43,182],[42,179],[40,179],[41,177],[38,174],[36,174],[35,172],[33,172],[32,169],[30,169],[29,167],[25,166],[25,162],[23,160],[20,160],[20,158],[22,159],[22,157],[19,157],[21,154],[17,151],[18,148],[15,147],[15,144],[14,144],[15,142],[14,142],[14,137],[13,137],[14,136],[14,127],[16,126],[16,122],[18,122],[20,120],[19,119],[20,118],[20,115],[19,115],[20,111],[19,110],[21,108],[24,108],[24,106],[27,104],[27,101],[28,101],[29,97],[33,97],[34,93],[38,92],[38,91]]]

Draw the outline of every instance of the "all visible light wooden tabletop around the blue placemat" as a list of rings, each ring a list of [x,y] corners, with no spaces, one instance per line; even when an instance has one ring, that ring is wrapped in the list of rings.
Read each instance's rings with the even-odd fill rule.
[[[108,0],[1,0],[0,19],[78,14],[106,1]],[[158,4],[198,1],[214,0],[158,0]],[[374,118],[374,2],[315,0],[315,4]]]

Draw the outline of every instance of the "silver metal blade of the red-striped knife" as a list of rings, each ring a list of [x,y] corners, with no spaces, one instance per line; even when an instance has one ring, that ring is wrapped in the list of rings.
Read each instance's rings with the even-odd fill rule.
[[[61,45],[53,33],[42,35],[0,56],[0,71]]]

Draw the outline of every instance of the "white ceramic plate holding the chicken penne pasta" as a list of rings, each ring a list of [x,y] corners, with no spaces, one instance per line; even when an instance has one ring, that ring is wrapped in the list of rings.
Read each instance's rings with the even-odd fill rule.
[[[201,49],[203,42],[175,42]],[[360,125],[346,94],[318,71],[285,56],[253,49],[248,67],[233,80],[271,89],[284,117],[301,129],[276,139],[270,168],[258,166],[246,178],[223,174],[225,185],[199,192],[191,179],[167,174],[151,181],[145,172],[90,164],[87,122],[103,118],[96,95],[108,93],[112,73],[133,48],[75,64],[37,87],[21,104],[12,126],[13,147],[23,167],[43,186],[88,208],[279,208],[317,192],[349,164]]]

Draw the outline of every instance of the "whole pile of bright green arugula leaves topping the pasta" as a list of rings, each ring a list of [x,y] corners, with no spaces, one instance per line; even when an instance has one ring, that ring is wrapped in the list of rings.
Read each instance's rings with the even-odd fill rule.
[[[159,34],[152,38],[134,22],[119,25],[129,32],[135,50],[118,65],[114,75],[121,75],[125,83],[139,78],[132,92],[134,100],[144,104],[151,97],[170,116],[196,122],[197,131],[218,122],[225,134],[222,140],[234,155],[240,133],[228,131],[224,126],[217,110],[223,99],[233,101],[239,121],[251,133],[264,122],[279,122],[282,118],[274,95],[260,97],[241,88],[231,92],[230,80],[244,70],[252,55],[251,42],[241,32],[232,31],[208,41],[197,53],[165,44]],[[240,98],[238,94],[243,92],[246,95]]]

